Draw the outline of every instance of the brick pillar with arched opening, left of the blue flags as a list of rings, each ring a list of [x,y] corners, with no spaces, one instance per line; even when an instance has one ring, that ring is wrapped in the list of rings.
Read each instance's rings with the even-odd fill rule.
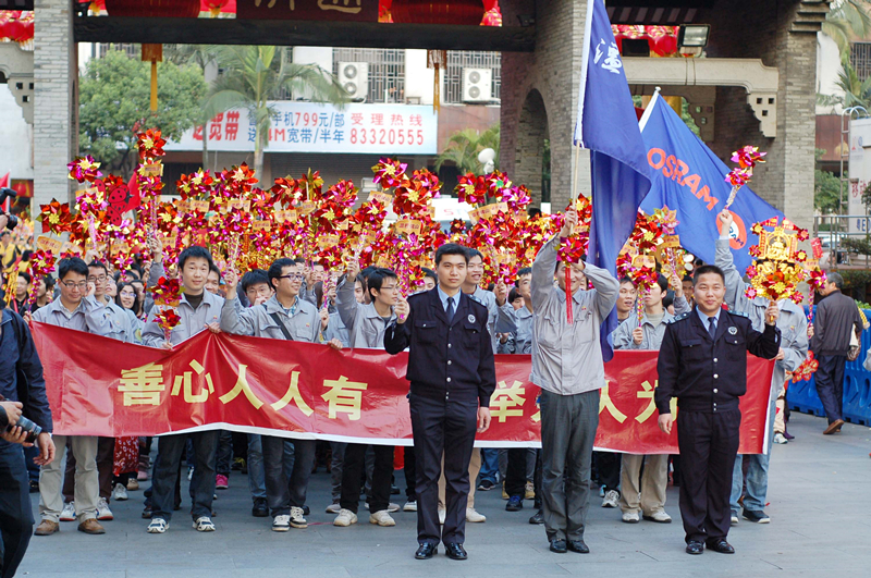
[[[519,14],[536,19],[535,52],[502,53],[500,168],[541,199],[541,143],[551,144],[551,202],[553,210],[568,205],[576,174],[572,138],[577,116],[581,46],[587,2],[584,0],[502,0],[505,22]],[[542,126],[538,107],[543,104]],[[536,121],[536,119],[539,119]],[[578,190],[589,195],[589,155],[578,165]]]

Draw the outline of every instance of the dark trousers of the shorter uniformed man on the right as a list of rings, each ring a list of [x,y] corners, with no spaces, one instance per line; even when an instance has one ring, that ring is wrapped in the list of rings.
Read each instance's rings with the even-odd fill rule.
[[[686,541],[725,539],[732,472],[740,441],[740,409],[677,413],[680,448],[680,517]]]

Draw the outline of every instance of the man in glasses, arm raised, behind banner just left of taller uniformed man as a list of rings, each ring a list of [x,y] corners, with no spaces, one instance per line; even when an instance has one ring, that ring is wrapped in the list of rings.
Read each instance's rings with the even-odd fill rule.
[[[384,348],[384,331],[396,320],[393,307],[398,303],[398,278],[390,269],[375,269],[366,282],[372,303],[357,303],[354,288],[360,266],[351,261],[347,275],[336,288],[339,316],[351,335],[351,346]],[[351,526],[357,522],[360,501],[360,479],[366,458],[366,444],[349,443],[345,448],[342,466],[342,496],[334,526]],[[373,445],[375,468],[372,470],[372,495],[369,499],[369,522],[378,526],[395,526],[390,515],[390,485],[393,476],[393,446]],[[395,506],[398,509],[398,506]]]

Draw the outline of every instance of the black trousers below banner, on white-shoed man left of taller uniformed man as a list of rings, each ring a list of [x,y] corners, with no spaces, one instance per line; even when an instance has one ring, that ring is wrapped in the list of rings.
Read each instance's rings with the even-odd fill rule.
[[[339,506],[356,513],[360,503],[360,479],[363,479],[368,445],[349,443],[345,447],[342,464],[342,496]],[[393,446],[373,445],[375,469],[372,470],[372,495],[369,512],[376,513],[390,506],[390,483],[393,476]]]

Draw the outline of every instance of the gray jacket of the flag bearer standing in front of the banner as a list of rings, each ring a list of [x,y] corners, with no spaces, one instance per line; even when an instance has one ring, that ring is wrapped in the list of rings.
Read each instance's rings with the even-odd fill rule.
[[[532,373],[536,385],[557,395],[599,390],[605,384],[599,327],[617,303],[619,283],[604,269],[585,263],[596,288],[573,296],[573,323],[566,319],[565,291],[553,283],[559,234],[532,263]]]

